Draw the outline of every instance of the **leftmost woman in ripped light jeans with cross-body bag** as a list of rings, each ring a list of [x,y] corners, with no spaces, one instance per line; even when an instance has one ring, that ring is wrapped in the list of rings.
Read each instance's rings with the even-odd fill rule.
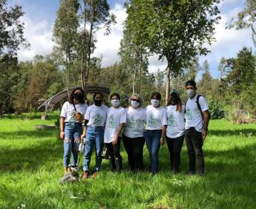
[[[61,108],[60,138],[64,140],[64,171],[67,173],[72,153],[72,166],[77,166],[78,148],[82,135],[82,122],[87,111],[82,88],[74,88],[69,101]]]

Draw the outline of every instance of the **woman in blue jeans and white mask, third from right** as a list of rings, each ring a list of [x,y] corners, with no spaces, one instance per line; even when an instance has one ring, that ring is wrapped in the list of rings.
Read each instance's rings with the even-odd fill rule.
[[[158,171],[158,153],[160,146],[164,145],[167,126],[167,112],[165,108],[160,106],[160,101],[161,94],[153,92],[151,95],[152,105],[147,106],[145,109],[146,131],[144,136],[152,165],[152,175],[155,175]]]

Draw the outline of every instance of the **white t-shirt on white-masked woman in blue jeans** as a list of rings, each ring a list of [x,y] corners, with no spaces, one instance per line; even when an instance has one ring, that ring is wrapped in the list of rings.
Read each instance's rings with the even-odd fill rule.
[[[147,116],[147,130],[161,130],[167,125],[167,112],[163,107],[155,108],[152,105],[145,109]]]

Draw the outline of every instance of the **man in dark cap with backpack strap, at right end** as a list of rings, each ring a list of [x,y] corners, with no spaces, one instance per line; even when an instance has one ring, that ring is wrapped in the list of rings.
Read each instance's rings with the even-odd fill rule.
[[[202,144],[208,131],[210,113],[207,101],[197,94],[195,81],[186,82],[186,93],[189,97],[185,103],[185,138],[187,153],[189,156],[188,175],[195,173],[195,159],[197,158],[197,174],[205,173],[205,159],[202,152]]]

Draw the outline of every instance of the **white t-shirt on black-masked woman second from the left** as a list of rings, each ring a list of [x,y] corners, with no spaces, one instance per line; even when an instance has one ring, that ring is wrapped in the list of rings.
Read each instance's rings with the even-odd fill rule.
[[[107,119],[107,106],[89,106],[85,119],[88,120],[87,126],[104,126]]]

